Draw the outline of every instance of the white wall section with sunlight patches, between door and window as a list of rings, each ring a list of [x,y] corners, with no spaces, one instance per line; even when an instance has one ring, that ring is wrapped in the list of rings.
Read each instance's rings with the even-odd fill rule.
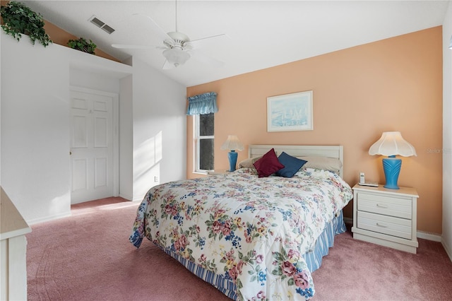
[[[133,58],[133,200],[186,177],[185,99],[184,85]]]

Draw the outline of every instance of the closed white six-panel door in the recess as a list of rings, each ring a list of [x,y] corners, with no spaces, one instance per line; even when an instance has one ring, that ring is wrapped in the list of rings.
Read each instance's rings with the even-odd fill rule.
[[[71,90],[71,203],[114,196],[114,96]]]

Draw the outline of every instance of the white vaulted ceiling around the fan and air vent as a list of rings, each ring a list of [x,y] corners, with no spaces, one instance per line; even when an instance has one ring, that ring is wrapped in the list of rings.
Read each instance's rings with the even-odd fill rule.
[[[23,1],[99,49],[134,56],[186,86],[248,73],[441,25],[448,1]],[[176,9],[177,8],[177,9]],[[95,16],[108,34],[90,22]],[[196,44],[184,65],[163,70],[162,35],[176,30]],[[112,44],[151,46],[116,49]],[[157,47],[155,47],[157,46]],[[210,59],[206,59],[210,58]],[[222,66],[210,64],[211,59]]]

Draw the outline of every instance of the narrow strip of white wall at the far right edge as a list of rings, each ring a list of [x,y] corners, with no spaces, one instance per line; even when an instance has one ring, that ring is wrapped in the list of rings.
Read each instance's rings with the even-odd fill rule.
[[[443,234],[444,249],[452,260],[452,1],[443,23]]]

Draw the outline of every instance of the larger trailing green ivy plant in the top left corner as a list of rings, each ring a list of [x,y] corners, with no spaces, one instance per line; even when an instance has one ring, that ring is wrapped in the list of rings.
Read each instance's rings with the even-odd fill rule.
[[[40,13],[35,13],[25,4],[10,1],[6,6],[0,8],[1,18],[3,18],[3,28],[7,35],[12,35],[16,40],[20,40],[21,34],[28,35],[33,45],[39,41],[44,47],[52,43],[49,35],[44,30],[44,20]]]

